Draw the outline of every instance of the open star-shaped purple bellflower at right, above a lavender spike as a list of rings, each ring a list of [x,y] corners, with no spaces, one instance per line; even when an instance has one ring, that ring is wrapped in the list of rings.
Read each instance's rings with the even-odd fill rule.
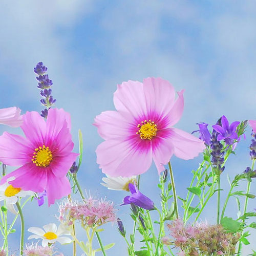
[[[236,132],[237,126],[240,124],[239,121],[232,122],[229,125],[229,122],[225,116],[221,117],[221,125],[215,124],[212,125],[214,130],[219,133],[217,139],[224,140],[227,144],[232,144],[234,139],[238,139],[238,134]]]

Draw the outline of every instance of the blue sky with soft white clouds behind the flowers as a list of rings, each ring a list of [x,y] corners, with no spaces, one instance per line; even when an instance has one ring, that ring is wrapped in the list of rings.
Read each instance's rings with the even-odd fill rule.
[[[213,124],[223,114],[231,121],[255,119],[255,7],[254,1],[231,0],[47,0],[44,5],[32,0],[3,1],[0,108],[16,105],[23,113],[41,110],[33,67],[43,61],[53,80],[56,106],[71,113],[76,151],[78,129],[83,133],[80,182],[92,194],[113,200],[129,230],[129,207],[118,206],[126,194],[109,191],[99,184],[103,175],[94,151],[102,140],[92,125],[94,117],[102,111],[114,110],[116,84],[155,76],[169,80],[177,91],[185,89],[185,110],[177,125],[180,129],[191,132],[196,130],[195,123]],[[21,133],[1,126],[0,132],[4,131]],[[250,164],[249,143],[248,131],[247,140],[239,145],[239,154],[232,156],[226,167],[224,187],[227,188],[227,174],[233,177]],[[173,158],[181,196],[189,183],[184,175],[188,177],[200,160],[201,157],[190,161]],[[155,166],[142,176],[143,192],[156,202],[157,179]],[[252,191],[256,192],[255,182]],[[215,218],[214,208],[212,201],[204,214],[209,221]],[[235,208],[236,205],[230,206]],[[25,213],[26,227],[57,223],[56,206],[38,209],[33,202],[26,206]],[[115,227],[106,229],[112,232]],[[109,237],[106,232],[102,237],[105,244],[116,241],[109,254],[120,255],[125,244],[118,233],[113,231],[113,237]],[[11,248],[16,250],[16,234],[10,240]],[[248,246],[245,254],[249,254],[249,248],[253,247]],[[71,246],[60,250],[71,255]]]

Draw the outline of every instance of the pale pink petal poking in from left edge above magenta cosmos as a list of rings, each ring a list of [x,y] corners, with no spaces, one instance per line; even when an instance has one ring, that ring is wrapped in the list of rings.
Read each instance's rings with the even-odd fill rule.
[[[0,124],[6,124],[12,127],[22,125],[22,116],[20,116],[20,109],[16,106],[11,108],[0,109]]]

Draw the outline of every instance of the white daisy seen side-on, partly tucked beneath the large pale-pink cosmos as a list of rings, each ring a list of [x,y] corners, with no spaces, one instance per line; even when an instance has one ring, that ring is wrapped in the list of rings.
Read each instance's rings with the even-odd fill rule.
[[[106,175],[106,177],[102,178],[102,181],[105,183],[100,183],[102,186],[108,187],[108,189],[112,190],[129,190],[129,183],[136,183],[137,176],[132,177],[110,177]]]

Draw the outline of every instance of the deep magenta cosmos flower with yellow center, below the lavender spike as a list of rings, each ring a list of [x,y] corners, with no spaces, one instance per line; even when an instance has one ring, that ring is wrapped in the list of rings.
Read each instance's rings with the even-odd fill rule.
[[[66,177],[78,154],[72,153],[69,113],[50,109],[47,121],[37,112],[27,112],[20,126],[26,138],[5,132],[0,136],[0,161],[7,165],[22,165],[2,178],[9,177],[14,187],[34,192],[47,191],[48,204],[71,192]]]

